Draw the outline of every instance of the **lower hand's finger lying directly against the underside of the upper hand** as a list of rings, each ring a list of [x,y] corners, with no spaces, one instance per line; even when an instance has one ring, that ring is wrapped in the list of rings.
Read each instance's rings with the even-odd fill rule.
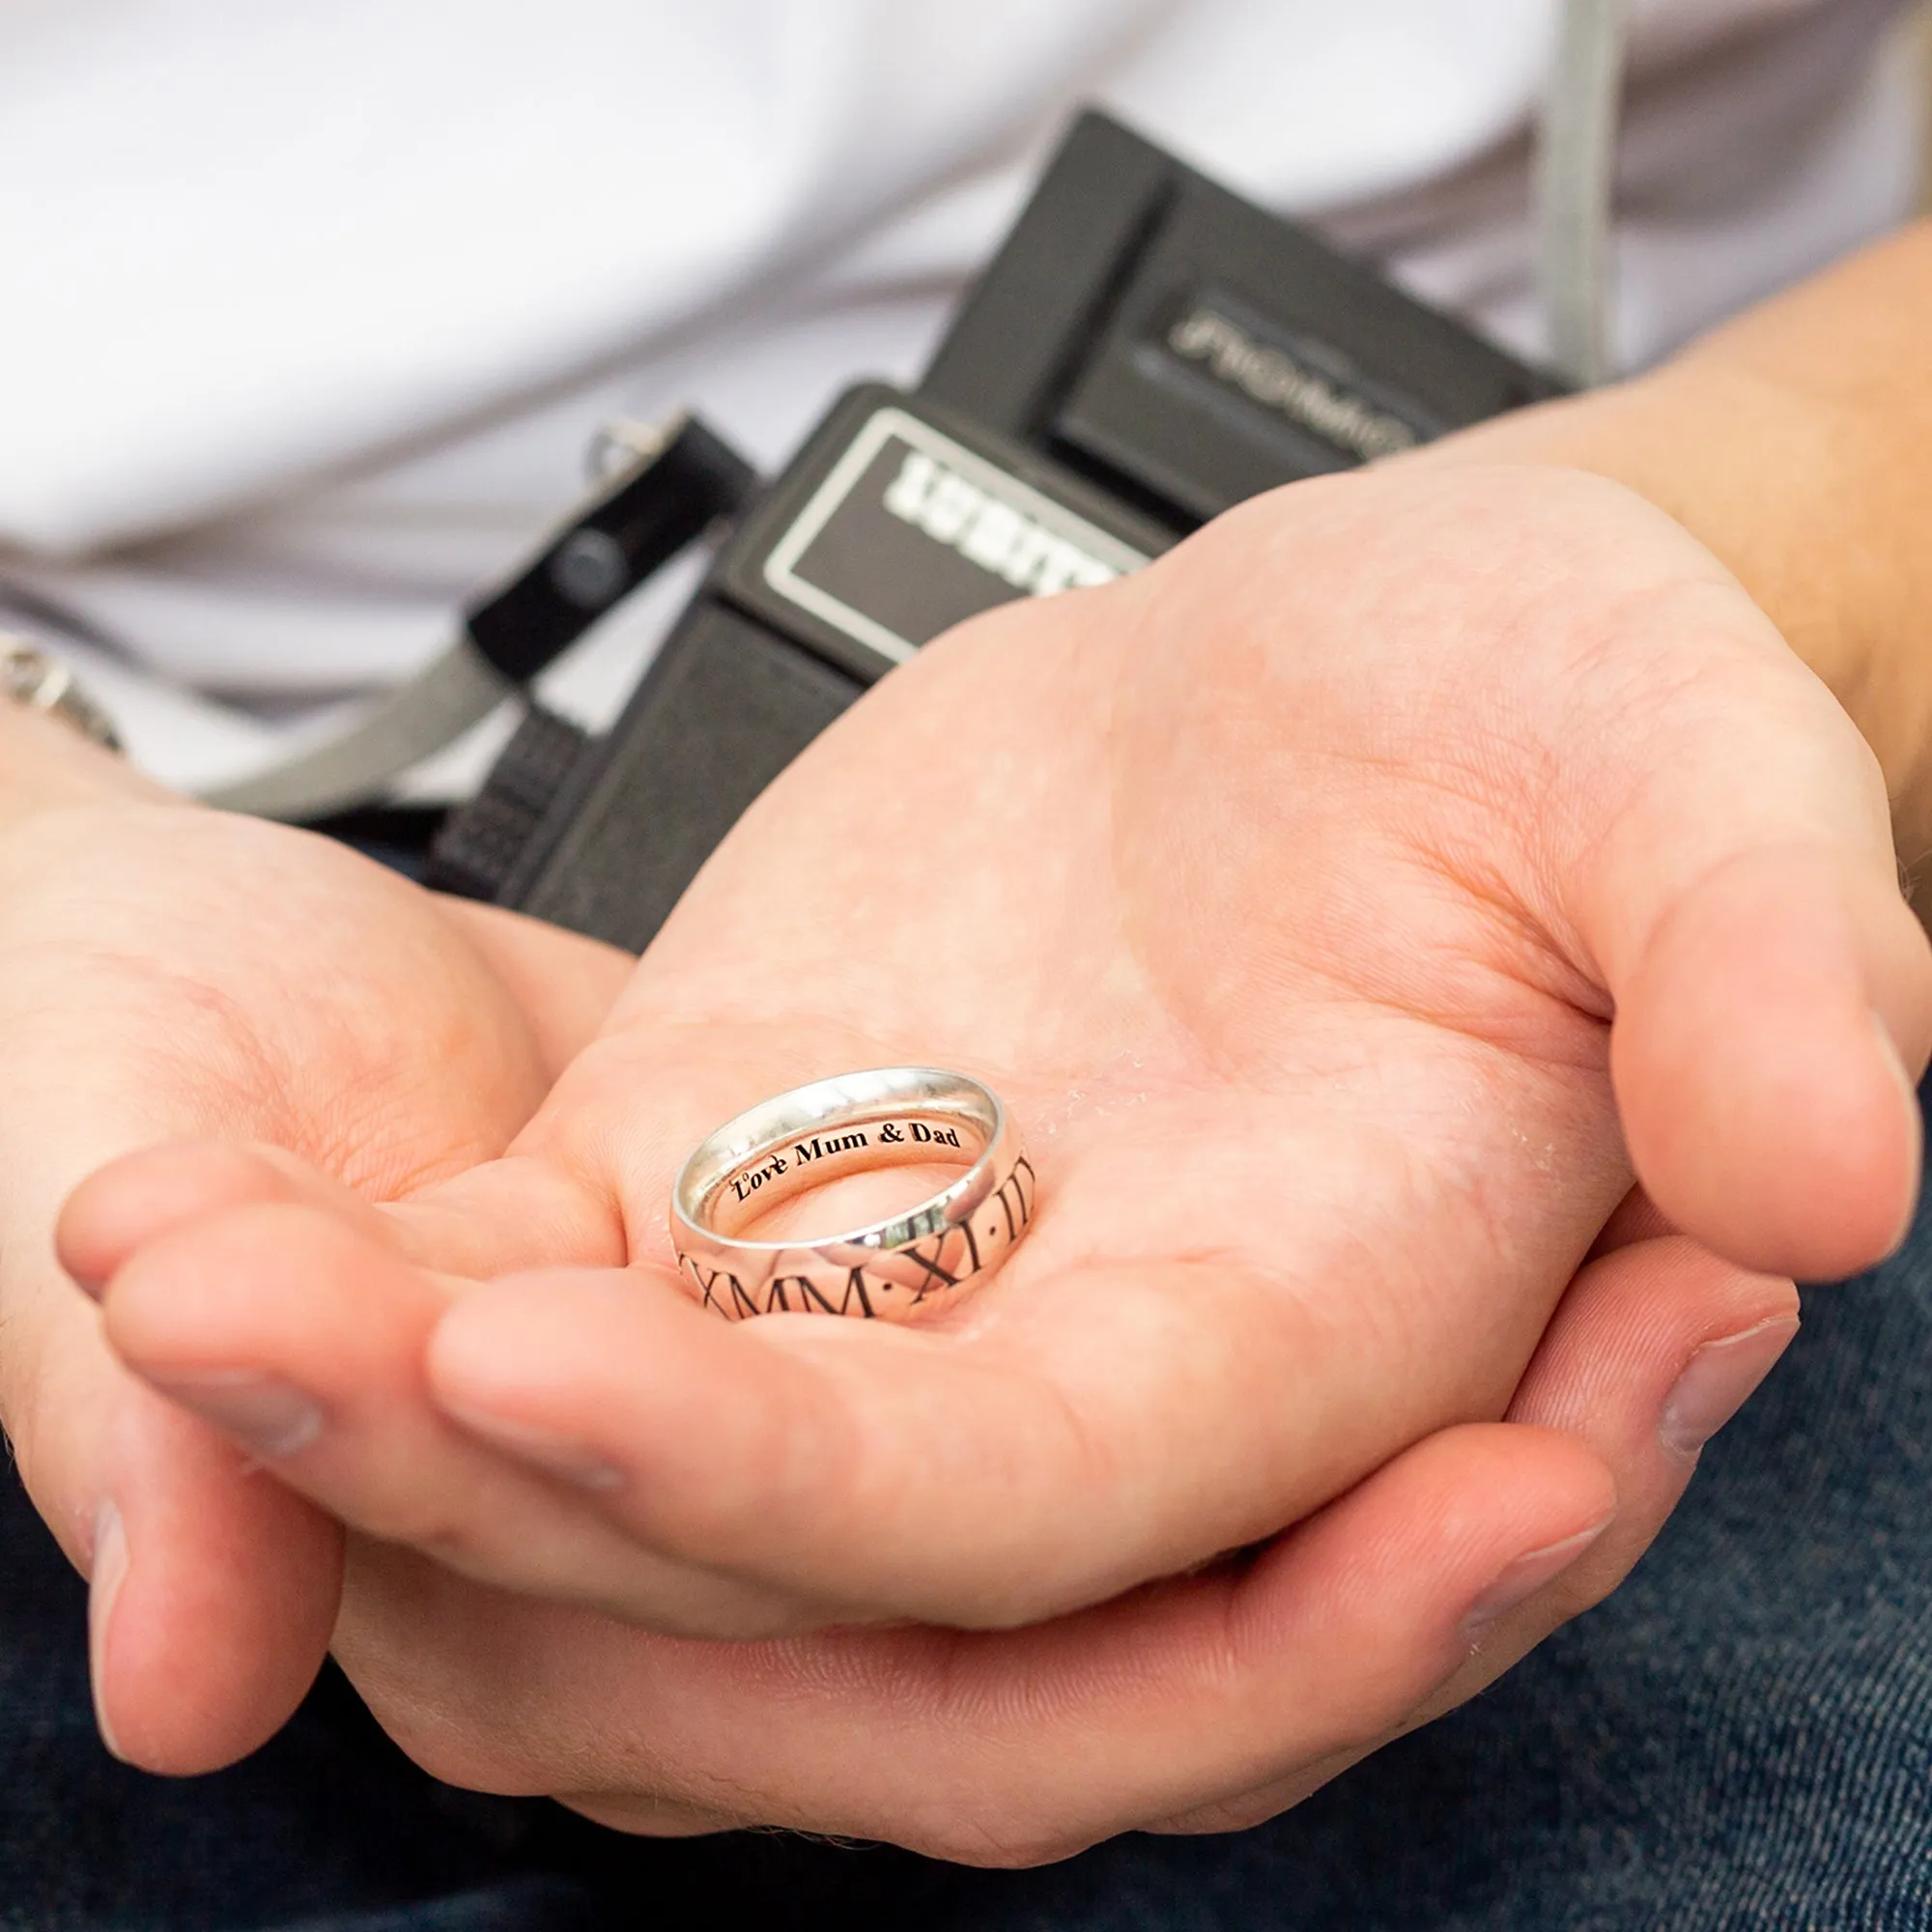
[[[1472,1613],[1575,1559],[1611,1507],[1575,1443],[1472,1426],[1250,1561],[1016,1633],[680,1644],[558,1629],[379,1557],[355,1565],[338,1652],[460,1783],[562,1789],[622,1822],[641,1776],[653,1804],[707,1818],[1037,1862],[1378,1735],[1461,1663]],[[435,1654],[410,1634],[429,1623]]]

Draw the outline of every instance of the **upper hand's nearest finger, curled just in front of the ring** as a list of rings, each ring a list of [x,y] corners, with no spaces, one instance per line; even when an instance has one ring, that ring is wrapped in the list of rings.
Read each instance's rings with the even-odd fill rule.
[[[721,1323],[639,1279],[464,1294],[435,1401],[506,1453],[601,1470],[591,1501],[645,1548],[885,1615],[1005,1627],[1171,1575],[1337,1495],[1370,1439],[1422,1434],[1399,1399],[1437,1401],[1401,1337],[1372,1358],[1233,1265],[1076,1269],[956,1331]]]

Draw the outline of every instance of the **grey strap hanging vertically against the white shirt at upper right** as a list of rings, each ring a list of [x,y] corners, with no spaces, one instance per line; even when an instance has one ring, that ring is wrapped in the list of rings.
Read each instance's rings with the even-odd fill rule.
[[[1536,261],[1549,361],[1578,388],[1615,375],[1617,104],[1627,0],[1563,0],[1536,137]]]

